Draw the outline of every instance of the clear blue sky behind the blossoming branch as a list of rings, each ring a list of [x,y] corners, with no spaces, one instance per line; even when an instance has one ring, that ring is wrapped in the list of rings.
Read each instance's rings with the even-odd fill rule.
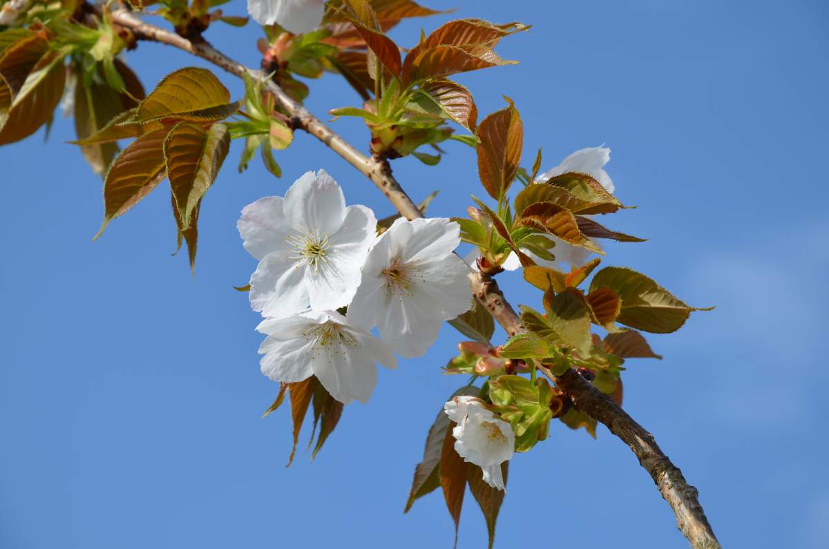
[[[665,359],[630,361],[624,380],[625,408],[700,488],[720,541],[829,546],[826,3],[424,3],[533,25],[499,46],[520,65],[458,80],[483,114],[502,95],[516,101],[526,163],[538,146],[546,168],[577,148],[611,147],[618,197],[639,207],[604,221],[649,240],[608,245],[605,264],[717,306],[650,338]],[[414,44],[421,26],[446,20],[409,22],[394,36]],[[258,63],[255,27],[208,37]],[[203,65],[148,43],[128,62],[148,88]],[[337,78],[312,85],[317,114],[358,104]],[[360,124],[333,127],[365,145]],[[0,547],[449,547],[439,493],[402,509],[429,423],[463,384],[439,375],[458,334],[444,328],[425,357],[381,372],[369,404],[347,407],[318,458],[300,451],[285,469],[288,412],[260,418],[278,387],[259,372],[257,315],[232,289],[255,268],[235,230],[246,204],[317,168],[378,216],[390,213],[381,194],[307,135],[278,154],[281,180],[257,163],[236,173],[233,143],[204,201],[191,277],[186,258],[170,256],[164,192],[90,243],[101,183],[64,143],[73,137],[58,117],[46,145],[39,133],[0,148]],[[441,190],[434,216],[460,215],[470,193],[483,194],[472,151],[447,148],[437,168],[394,165],[413,197]],[[539,301],[518,275],[502,285],[514,304]],[[539,537],[686,547],[647,474],[604,427],[593,440],[554,425],[513,460],[497,547]],[[459,547],[485,540],[468,495]]]

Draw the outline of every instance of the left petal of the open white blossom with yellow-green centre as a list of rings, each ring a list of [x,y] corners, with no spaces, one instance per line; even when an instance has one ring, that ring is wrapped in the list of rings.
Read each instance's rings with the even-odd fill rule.
[[[257,260],[273,252],[287,253],[285,236],[292,228],[285,219],[282,197],[264,197],[248,204],[236,222],[245,250]]]

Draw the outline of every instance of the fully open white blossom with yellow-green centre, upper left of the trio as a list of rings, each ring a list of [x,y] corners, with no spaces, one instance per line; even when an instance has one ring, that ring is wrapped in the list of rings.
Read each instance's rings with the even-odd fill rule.
[[[264,317],[339,309],[360,285],[360,267],[376,237],[366,206],[348,206],[324,170],[306,172],[282,197],[245,206],[237,224],[245,249],[259,260],[250,304]]]

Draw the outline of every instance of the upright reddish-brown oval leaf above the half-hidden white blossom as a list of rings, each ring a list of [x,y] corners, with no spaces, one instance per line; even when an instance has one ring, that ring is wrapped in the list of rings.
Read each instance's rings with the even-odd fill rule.
[[[516,108],[490,114],[478,126],[478,176],[489,196],[498,200],[507,194],[521,163],[524,124]]]

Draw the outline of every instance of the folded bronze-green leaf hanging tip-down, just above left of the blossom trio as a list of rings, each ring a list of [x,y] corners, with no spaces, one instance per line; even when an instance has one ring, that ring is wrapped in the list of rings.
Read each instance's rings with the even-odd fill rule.
[[[167,177],[183,228],[190,226],[193,208],[216,181],[229,148],[230,133],[221,123],[205,131],[199,124],[179,122],[164,139]]]

